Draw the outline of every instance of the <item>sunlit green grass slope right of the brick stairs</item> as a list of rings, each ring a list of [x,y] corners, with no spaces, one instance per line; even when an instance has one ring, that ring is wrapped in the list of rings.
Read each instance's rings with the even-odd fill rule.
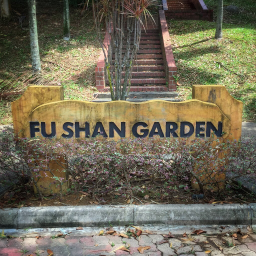
[[[216,1],[205,3],[216,10]],[[189,99],[192,84],[225,85],[243,102],[243,121],[256,121],[256,2],[225,1],[229,4],[238,6],[240,13],[224,13],[222,40],[214,39],[215,22],[168,20],[178,68],[177,90]]]

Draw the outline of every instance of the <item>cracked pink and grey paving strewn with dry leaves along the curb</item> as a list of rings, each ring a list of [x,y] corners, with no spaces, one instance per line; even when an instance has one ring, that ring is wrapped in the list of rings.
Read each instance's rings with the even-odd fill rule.
[[[225,230],[217,230],[218,236],[209,234],[191,234],[186,237],[182,234],[174,237],[164,237],[160,232],[142,232],[137,239],[127,238],[116,235],[79,235],[69,233],[65,236],[57,237],[55,235],[40,236],[40,233],[30,233],[28,235],[19,235],[16,238],[0,239],[1,256],[21,256],[21,255],[39,255],[39,256],[83,256],[83,255],[150,255],[150,256],[256,256],[256,234],[249,233],[247,230],[243,233],[237,233],[237,239],[233,239],[231,234],[225,234]],[[235,229],[236,231],[236,229]],[[27,231],[29,233],[29,230]],[[190,231],[189,231],[190,232]],[[122,234],[125,233],[122,232]],[[36,237],[35,237],[36,236]],[[222,237],[221,237],[222,236]],[[243,238],[241,238],[243,237]],[[244,238],[246,237],[246,238]],[[192,241],[193,240],[193,241]],[[215,242],[215,243],[214,243]],[[219,248],[217,245],[219,245]],[[122,247],[122,249],[120,249]],[[128,251],[123,249],[127,248]],[[144,247],[144,252],[139,249]],[[48,251],[47,251],[48,250]],[[53,254],[51,254],[53,253]]]

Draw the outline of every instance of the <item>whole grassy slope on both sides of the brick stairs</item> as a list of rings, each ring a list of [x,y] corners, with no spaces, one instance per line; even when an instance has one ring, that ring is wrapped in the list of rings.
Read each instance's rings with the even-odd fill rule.
[[[216,0],[204,1],[216,14]],[[12,0],[11,4],[26,17],[22,27],[15,14],[0,22],[0,80],[31,67],[26,3]],[[256,121],[256,3],[225,0],[224,4],[236,5],[241,11],[224,12],[222,40],[214,39],[214,22],[168,20],[181,85],[177,90],[183,99],[189,99],[192,84],[223,84],[244,103],[243,120]],[[43,76],[64,86],[65,99],[91,100],[100,52],[91,10],[81,13],[80,8],[70,6],[71,39],[66,42],[59,3],[40,0],[36,8]],[[0,124],[11,122],[10,102],[0,100]]]

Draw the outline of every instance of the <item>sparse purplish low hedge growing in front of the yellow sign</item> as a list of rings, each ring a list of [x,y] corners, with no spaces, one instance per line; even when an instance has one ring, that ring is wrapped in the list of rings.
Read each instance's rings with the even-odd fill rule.
[[[67,161],[59,162],[60,158]],[[70,189],[104,197],[116,192],[125,197],[158,191],[160,199],[175,189],[198,184],[219,192],[232,180],[256,178],[255,141],[223,139],[130,139],[117,142],[98,135],[80,142],[15,138],[11,130],[0,133],[1,182],[20,187],[40,179],[40,170],[60,187],[67,180],[52,176],[49,162],[68,171]],[[19,183],[18,183],[19,182]],[[40,193],[39,193],[40,194]]]

